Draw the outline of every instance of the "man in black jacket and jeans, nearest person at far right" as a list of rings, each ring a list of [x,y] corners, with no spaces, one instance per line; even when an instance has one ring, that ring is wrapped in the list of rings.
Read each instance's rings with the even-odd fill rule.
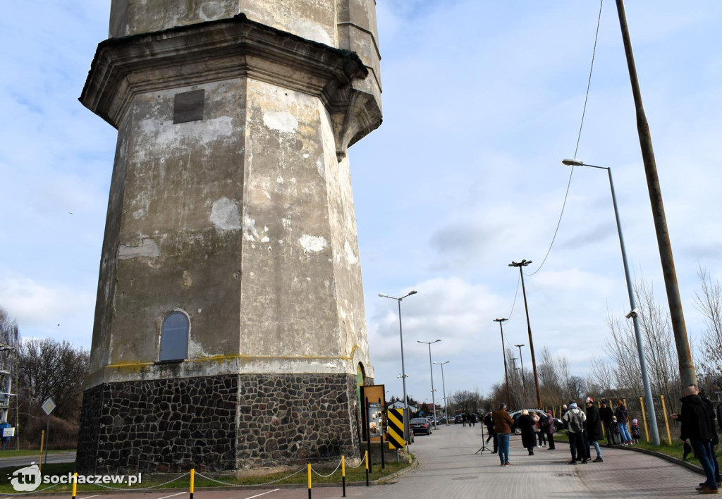
[[[707,481],[698,487],[701,494],[717,494],[717,480],[715,477],[714,455],[712,454],[712,440],[714,438],[714,422],[707,404],[697,395],[695,386],[687,386],[682,402],[682,412],[673,414],[672,418],[682,422],[679,438],[683,442],[690,440],[697,459],[700,460]]]

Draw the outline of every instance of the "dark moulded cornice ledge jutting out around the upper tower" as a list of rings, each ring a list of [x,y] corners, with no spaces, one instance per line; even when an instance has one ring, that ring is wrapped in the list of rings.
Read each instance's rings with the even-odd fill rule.
[[[381,124],[377,98],[355,85],[368,74],[354,52],[238,14],[101,42],[79,100],[117,129],[135,95],[229,78],[258,79],[321,99],[341,159]]]

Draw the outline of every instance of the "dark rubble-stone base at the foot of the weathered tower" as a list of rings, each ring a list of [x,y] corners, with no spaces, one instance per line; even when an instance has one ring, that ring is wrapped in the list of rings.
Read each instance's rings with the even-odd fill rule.
[[[85,391],[82,473],[234,471],[359,456],[347,375],[228,375]]]

